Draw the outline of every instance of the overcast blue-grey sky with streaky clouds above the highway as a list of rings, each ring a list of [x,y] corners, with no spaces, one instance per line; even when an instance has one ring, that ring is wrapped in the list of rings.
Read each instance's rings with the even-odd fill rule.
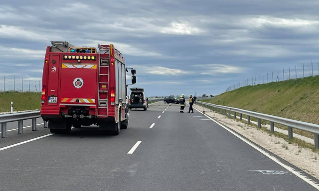
[[[318,0],[1,0],[0,76],[39,81],[52,40],[113,43],[147,96],[218,95],[318,65],[318,9]]]

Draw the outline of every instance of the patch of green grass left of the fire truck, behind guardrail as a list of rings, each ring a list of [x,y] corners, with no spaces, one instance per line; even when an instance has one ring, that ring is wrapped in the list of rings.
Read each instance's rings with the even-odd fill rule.
[[[9,112],[13,102],[13,111],[35,110],[41,107],[41,93],[1,92],[0,112]]]

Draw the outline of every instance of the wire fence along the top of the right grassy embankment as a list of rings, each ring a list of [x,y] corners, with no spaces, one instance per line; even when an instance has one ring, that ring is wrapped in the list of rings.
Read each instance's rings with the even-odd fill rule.
[[[233,91],[245,86],[256,86],[258,84],[268,84],[271,82],[306,78],[310,76],[319,76],[319,62],[318,64],[315,64],[312,61],[311,63],[295,65],[295,67],[293,68],[283,68],[276,71],[251,76],[241,82],[237,82],[234,85],[228,87],[226,89],[226,92]]]

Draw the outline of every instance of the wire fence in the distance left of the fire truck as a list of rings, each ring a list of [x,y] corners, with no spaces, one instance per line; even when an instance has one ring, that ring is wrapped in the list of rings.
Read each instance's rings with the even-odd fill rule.
[[[42,80],[3,76],[0,79],[0,92],[41,92]]]

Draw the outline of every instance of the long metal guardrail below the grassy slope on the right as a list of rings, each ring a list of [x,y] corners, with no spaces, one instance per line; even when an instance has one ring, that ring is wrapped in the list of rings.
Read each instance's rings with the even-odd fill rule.
[[[220,112],[221,114],[224,113],[225,115],[227,115],[227,111],[228,111],[229,117],[231,117],[231,111],[233,112],[234,118],[236,118],[236,113],[239,113],[240,120],[243,119],[242,115],[245,114],[245,115],[247,115],[247,123],[248,124],[250,124],[250,117],[251,116],[256,117],[259,128],[261,127],[261,119],[270,121],[270,133],[275,132],[274,123],[279,123],[279,124],[288,126],[288,137],[290,139],[293,138],[293,128],[312,132],[315,135],[315,148],[319,149],[319,125],[318,124],[307,123],[307,122],[303,122],[303,121],[297,121],[297,120],[293,120],[293,119],[287,119],[287,118],[263,114],[263,113],[257,113],[254,111],[248,111],[248,110],[238,109],[238,108],[234,108],[234,107],[215,105],[212,103],[206,103],[206,102],[202,102],[202,101],[196,101],[196,102],[202,104],[206,108],[210,108],[213,111]]]

